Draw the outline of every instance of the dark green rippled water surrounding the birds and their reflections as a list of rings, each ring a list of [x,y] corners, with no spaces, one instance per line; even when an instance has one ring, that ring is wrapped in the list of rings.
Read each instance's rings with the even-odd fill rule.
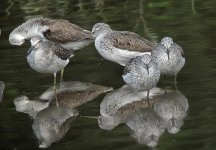
[[[32,70],[26,61],[29,44],[11,46],[9,33],[33,16],[67,19],[87,30],[106,22],[115,30],[129,30],[154,41],[171,36],[183,47],[186,65],[178,76],[178,89],[189,102],[188,116],[177,134],[165,132],[158,150],[216,149],[216,1],[213,0],[1,0],[0,80],[5,82],[0,103],[0,149],[38,149],[32,120],[16,112],[13,99],[35,97],[53,82],[51,75]],[[115,89],[124,83],[123,68],[104,60],[94,45],[78,51],[65,70],[64,80],[78,80]],[[159,87],[172,85],[172,78]],[[105,94],[104,94],[105,95]],[[99,115],[104,95],[79,108],[81,115]],[[97,120],[78,118],[50,149],[149,149],[137,144],[126,125],[112,131],[98,127]]]

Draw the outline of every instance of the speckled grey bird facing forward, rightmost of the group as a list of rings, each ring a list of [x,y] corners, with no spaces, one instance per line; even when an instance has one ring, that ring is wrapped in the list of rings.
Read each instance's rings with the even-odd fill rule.
[[[183,49],[170,37],[161,39],[161,42],[152,50],[152,58],[163,75],[176,76],[185,64]]]

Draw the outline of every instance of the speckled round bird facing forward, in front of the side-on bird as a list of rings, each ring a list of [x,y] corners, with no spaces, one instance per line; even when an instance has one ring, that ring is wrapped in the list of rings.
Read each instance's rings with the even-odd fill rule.
[[[148,54],[130,60],[124,69],[123,80],[135,91],[150,90],[160,79],[160,70]]]

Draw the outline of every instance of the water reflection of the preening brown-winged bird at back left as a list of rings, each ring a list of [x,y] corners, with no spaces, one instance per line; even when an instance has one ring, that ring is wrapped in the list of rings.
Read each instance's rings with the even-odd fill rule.
[[[80,81],[61,82],[57,86],[57,98],[60,106],[78,107],[98,95],[113,90],[112,87],[96,85]],[[53,105],[55,91],[53,86],[44,91],[38,98],[30,100],[27,96],[18,96],[14,99],[16,111],[27,113],[33,118],[37,113],[49,105]]]

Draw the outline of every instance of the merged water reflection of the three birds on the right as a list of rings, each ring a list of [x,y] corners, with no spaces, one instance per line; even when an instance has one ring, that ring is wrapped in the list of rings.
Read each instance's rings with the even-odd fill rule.
[[[187,115],[188,102],[180,91],[153,88],[150,104],[148,108],[146,91],[134,92],[125,85],[104,97],[98,125],[101,129],[112,130],[125,123],[138,143],[155,147],[165,129],[170,133],[180,130]]]

